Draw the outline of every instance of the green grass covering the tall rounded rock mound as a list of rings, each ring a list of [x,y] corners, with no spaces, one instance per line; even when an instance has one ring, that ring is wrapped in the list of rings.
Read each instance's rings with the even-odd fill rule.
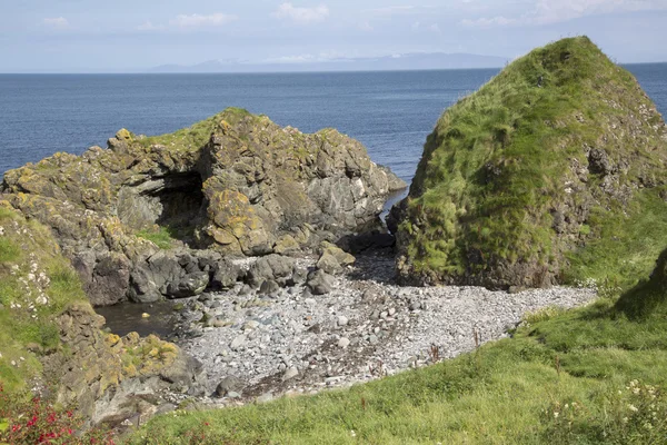
[[[569,55],[566,60],[564,55]],[[470,251],[479,251],[486,263],[494,256],[510,263],[559,261],[561,246],[555,241],[550,210],[564,200],[570,159],[588,165],[583,146],[599,147],[611,119],[640,103],[649,106],[633,76],[581,37],[531,51],[449,108],[427,140],[411,187],[409,219],[400,227],[410,234],[407,250],[416,271],[475,273],[480,265],[469,263]],[[647,138],[640,147],[609,144],[610,157],[640,154],[644,165],[659,166],[665,150],[651,150],[665,144],[655,135]],[[636,182],[637,175],[630,170],[620,181]],[[590,180],[595,187],[599,178]],[[667,206],[656,204],[661,201],[658,190],[636,195],[637,201],[650,204],[648,211],[636,206],[626,218],[609,218],[620,210],[598,197],[580,238],[640,235],[653,227],[651,241],[638,236],[619,246],[593,244],[571,255],[570,278],[620,274],[629,283],[637,271],[643,276],[650,270],[667,246]],[[636,267],[626,267],[624,258],[636,259]]]

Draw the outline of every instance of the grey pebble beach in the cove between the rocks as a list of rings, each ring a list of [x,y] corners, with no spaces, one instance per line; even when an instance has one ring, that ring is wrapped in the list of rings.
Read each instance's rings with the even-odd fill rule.
[[[316,260],[296,264],[313,268]],[[252,263],[239,266],[249,269]],[[506,337],[527,313],[580,306],[597,296],[568,287],[515,294],[401,287],[392,265],[388,249],[359,255],[325,295],[312,295],[306,283],[268,295],[238,283],[179,300],[175,343],[207,375],[207,396],[196,399],[228,406],[346,387],[455,357]]]

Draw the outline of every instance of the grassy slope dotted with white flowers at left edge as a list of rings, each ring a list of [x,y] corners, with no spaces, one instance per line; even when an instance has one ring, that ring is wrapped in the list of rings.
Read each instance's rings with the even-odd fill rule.
[[[87,298],[48,229],[26,221],[2,201],[0,227],[0,384],[20,392],[41,370],[38,354],[59,346],[54,317]],[[47,305],[36,303],[40,295]]]

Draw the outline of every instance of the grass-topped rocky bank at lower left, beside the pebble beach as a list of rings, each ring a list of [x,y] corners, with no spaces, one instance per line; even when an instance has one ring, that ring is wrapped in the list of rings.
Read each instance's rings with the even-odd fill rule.
[[[176,345],[101,330],[81,283],[50,230],[0,199],[0,384],[22,393],[48,386],[92,423],[150,413],[128,388],[201,390],[198,364]]]

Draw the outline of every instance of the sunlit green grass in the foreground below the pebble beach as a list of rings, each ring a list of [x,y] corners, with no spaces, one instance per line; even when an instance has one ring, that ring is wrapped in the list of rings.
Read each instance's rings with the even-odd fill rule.
[[[512,338],[316,396],[152,419],[130,444],[663,444],[667,254],[619,298],[531,314]]]

